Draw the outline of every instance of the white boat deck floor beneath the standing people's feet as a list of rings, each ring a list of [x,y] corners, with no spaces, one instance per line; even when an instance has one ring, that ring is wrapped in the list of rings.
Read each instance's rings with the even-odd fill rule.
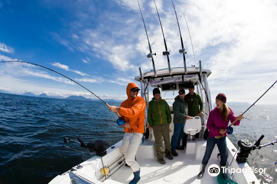
[[[178,156],[172,160],[164,158],[166,163],[160,164],[156,158],[147,155],[136,155],[137,162],[141,167],[139,183],[175,183],[175,184],[199,184],[217,183],[217,177],[208,174],[207,168],[211,164],[219,164],[218,159],[210,159],[202,179],[197,175],[201,168],[202,160],[196,160],[195,154],[186,155],[186,150],[177,150]],[[133,179],[133,171],[123,165],[112,175],[112,179],[121,183],[129,183]]]

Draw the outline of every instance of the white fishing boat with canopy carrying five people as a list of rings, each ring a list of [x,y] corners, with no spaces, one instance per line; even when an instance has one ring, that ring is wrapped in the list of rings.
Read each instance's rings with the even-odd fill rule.
[[[170,67],[169,67],[170,68]],[[206,130],[206,122],[210,111],[213,109],[210,95],[210,88],[208,84],[208,77],[211,75],[209,69],[202,69],[201,61],[199,61],[199,67],[177,67],[166,68],[156,71],[156,77],[154,71],[143,73],[140,68],[140,75],[134,79],[141,83],[141,96],[146,100],[147,106],[149,102],[149,87],[159,87],[162,92],[178,92],[179,89],[188,89],[188,86],[195,85],[195,92],[198,93],[203,99],[203,112],[201,117],[188,120],[184,127],[184,131],[187,132],[188,141],[184,150],[177,150],[178,156],[169,160],[165,158],[166,163],[160,164],[157,161],[155,151],[154,135],[150,136],[151,139],[146,139],[140,144],[136,160],[141,167],[139,184],[146,183],[208,183],[216,184],[217,177],[211,176],[208,173],[208,167],[211,164],[219,166],[220,155],[217,145],[215,145],[214,151],[211,155],[211,159],[207,164],[203,178],[198,179],[199,171],[201,170],[201,162],[206,149],[207,140],[203,139],[203,134]],[[170,71],[171,70],[171,71]],[[171,73],[171,75],[169,75]],[[177,93],[176,93],[177,94]],[[151,93],[150,93],[151,95]],[[176,95],[177,96],[177,95]],[[173,121],[172,106],[171,115]],[[146,108],[147,110],[147,108]],[[147,116],[147,113],[146,113]],[[146,118],[147,120],[147,118]],[[114,120],[115,121],[115,120]],[[190,123],[193,122],[193,123]],[[145,122],[147,128],[147,123]],[[170,137],[173,134],[174,124],[170,124],[171,132]],[[199,138],[195,139],[196,132],[200,132]],[[150,132],[152,133],[152,132]],[[123,137],[123,134],[122,134]],[[258,184],[259,180],[256,178],[254,172],[245,162],[238,162],[237,151],[240,149],[227,140],[227,165],[226,167],[234,169],[243,169],[242,173],[227,173],[227,180],[233,181],[239,184]],[[92,142],[90,145],[90,151],[96,151],[97,155],[78,164],[72,168],[69,168],[65,173],[56,176],[49,184],[120,184],[129,183],[134,175],[130,167],[125,166],[124,156],[121,152],[122,140],[114,144],[110,148],[104,148],[101,141]],[[164,142],[163,147],[165,148]],[[106,149],[106,150],[105,150]],[[105,152],[106,151],[106,152]],[[101,156],[102,155],[102,156]],[[248,155],[247,155],[248,156]],[[243,159],[242,159],[243,160]],[[238,170],[237,170],[238,171]]]

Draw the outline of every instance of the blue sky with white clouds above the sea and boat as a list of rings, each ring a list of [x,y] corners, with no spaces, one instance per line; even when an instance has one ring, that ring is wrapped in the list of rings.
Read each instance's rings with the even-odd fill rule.
[[[140,0],[153,52],[164,51],[152,0]],[[211,69],[212,99],[254,102],[276,80],[277,5],[274,1],[178,1],[175,8],[187,66]],[[156,1],[172,67],[183,66],[171,0]],[[237,6],[239,4],[239,6]],[[259,13],[257,13],[259,12]],[[185,13],[195,51],[194,61]],[[126,85],[152,69],[143,21],[135,0],[0,0],[0,60],[22,60],[54,69],[104,98],[126,98]],[[155,56],[157,69],[167,59]],[[54,72],[22,63],[0,64],[0,89],[14,93],[82,95],[81,86]],[[175,93],[176,95],[177,93]],[[276,90],[260,103],[276,104]],[[164,93],[162,93],[162,96]],[[167,98],[173,94],[167,93]]]

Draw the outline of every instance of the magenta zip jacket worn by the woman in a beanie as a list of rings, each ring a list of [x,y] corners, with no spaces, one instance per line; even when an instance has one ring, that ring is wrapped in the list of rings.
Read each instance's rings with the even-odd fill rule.
[[[229,108],[229,107],[228,107]],[[219,112],[219,109],[215,107],[215,109],[211,110],[209,114],[209,118],[207,121],[207,129],[209,130],[209,136],[208,137],[216,137],[216,136],[221,136],[220,134],[220,129],[227,129],[229,121],[231,123],[237,119],[235,117],[235,114],[232,109],[230,109],[230,113],[227,117],[227,121],[222,120],[221,113]],[[236,121],[234,126],[238,126],[240,123],[240,120]],[[224,136],[227,136],[227,131],[225,132]]]

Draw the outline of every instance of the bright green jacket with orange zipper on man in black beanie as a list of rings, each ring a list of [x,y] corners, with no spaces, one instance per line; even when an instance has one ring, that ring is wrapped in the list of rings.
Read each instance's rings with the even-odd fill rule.
[[[171,112],[165,100],[154,97],[148,104],[147,120],[149,126],[171,123]]]

